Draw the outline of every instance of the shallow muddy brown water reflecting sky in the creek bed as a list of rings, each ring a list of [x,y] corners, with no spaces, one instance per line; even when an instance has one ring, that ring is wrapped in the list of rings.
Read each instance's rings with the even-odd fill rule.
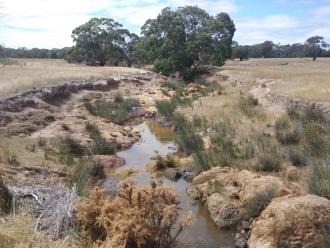
[[[136,126],[141,128],[141,139],[130,149],[118,152],[126,164],[117,171],[134,168],[139,173],[132,178],[138,184],[147,184],[153,174],[145,170],[145,165],[155,156],[173,153],[176,150],[175,134],[168,128],[161,127],[159,123],[148,121]],[[179,236],[176,247],[182,248],[232,248],[234,247],[233,233],[220,230],[212,221],[206,207],[193,202],[186,194],[189,182],[180,179],[176,182],[162,178],[164,184],[171,185],[180,196],[180,208],[183,212],[191,211],[194,222]]]

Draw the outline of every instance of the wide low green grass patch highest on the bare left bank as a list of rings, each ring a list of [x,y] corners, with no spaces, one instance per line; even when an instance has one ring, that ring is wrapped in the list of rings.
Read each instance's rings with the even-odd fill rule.
[[[128,113],[138,106],[139,102],[136,99],[123,99],[119,95],[115,97],[114,102],[97,101],[85,103],[86,109],[92,115],[103,117],[119,125],[123,125],[128,118]]]

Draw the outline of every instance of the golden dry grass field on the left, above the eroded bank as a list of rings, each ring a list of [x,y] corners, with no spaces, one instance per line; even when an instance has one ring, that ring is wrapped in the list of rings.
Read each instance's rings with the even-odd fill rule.
[[[33,87],[47,86],[65,80],[103,78],[141,73],[126,67],[96,67],[68,64],[60,59],[15,59],[17,64],[0,66],[0,98]]]

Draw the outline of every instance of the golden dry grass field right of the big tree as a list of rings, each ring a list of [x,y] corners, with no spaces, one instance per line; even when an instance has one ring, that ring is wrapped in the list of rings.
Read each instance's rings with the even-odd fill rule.
[[[230,61],[221,74],[241,81],[274,80],[274,93],[317,101],[330,101],[330,59],[250,59]]]

